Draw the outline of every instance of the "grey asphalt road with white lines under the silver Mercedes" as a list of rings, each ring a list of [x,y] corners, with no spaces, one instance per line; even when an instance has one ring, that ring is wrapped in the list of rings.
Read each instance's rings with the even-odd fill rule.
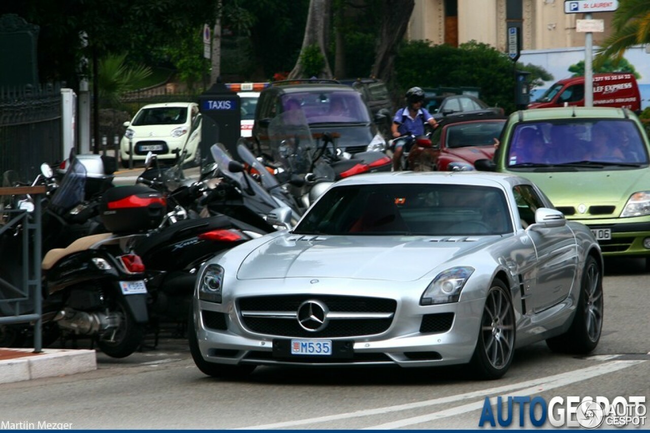
[[[146,347],[128,358],[98,353],[97,371],[0,385],[0,423],[86,429],[478,428],[486,397],[648,401],[647,277],[641,261],[607,261],[603,335],[595,352],[561,356],[543,343],[532,345],[517,350],[508,374],[496,381],[471,380],[463,367],[259,367],[245,380],[217,380],[194,367],[187,340],[168,327],[155,348],[149,335]],[[79,341],[79,347],[87,344]],[[513,427],[520,428],[517,406],[514,411]],[[532,426],[528,408],[524,419],[525,428]],[[648,423],[646,418],[645,428]]]

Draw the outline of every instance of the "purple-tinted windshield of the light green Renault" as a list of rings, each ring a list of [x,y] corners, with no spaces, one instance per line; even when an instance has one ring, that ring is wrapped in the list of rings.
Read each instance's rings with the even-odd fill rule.
[[[632,120],[528,122],[513,130],[508,166],[626,168],[648,164],[647,148]]]

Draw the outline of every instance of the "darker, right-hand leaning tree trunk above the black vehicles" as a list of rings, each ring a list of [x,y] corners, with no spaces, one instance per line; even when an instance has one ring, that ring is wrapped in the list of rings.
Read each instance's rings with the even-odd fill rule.
[[[375,51],[372,76],[390,83],[397,46],[404,38],[415,0],[383,0],[383,21]]]

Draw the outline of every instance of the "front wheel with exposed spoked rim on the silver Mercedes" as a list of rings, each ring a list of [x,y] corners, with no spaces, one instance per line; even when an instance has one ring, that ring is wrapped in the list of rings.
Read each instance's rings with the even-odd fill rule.
[[[476,378],[502,377],[515,353],[515,313],[506,285],[494,280],[487,291],[476,348],[470,361]]]

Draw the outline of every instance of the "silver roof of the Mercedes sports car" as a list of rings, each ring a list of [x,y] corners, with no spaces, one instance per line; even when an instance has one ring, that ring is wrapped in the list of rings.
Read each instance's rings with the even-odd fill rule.
[[[359,174],[335,183],[337,185],[367,185],[377,183],[439,183],[483,185],[512,189],[513,185],[532,185],[525,177],[495,172],[382,172]]]

